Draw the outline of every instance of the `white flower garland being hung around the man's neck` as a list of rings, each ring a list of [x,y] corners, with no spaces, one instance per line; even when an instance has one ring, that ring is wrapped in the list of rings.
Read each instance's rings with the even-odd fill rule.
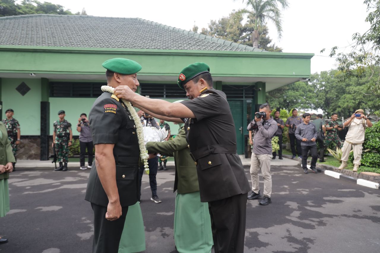
[[[103,85],[101,87],[101,90],[103,92],[109,92],[111,94],[114,94],[114,89],[115,88],[108,86],[108,85]],[[133,108],[131,102],[125,101],[123,99],[120,99],[120,100],[125,106],[127,106],[127,109],[131,113],[133,121],[135,122],[137,138],[139,140],[140,157],[142,160],[144,160],[145,173],[147,175],[149,175],[149,166],[148,166],[149,155],[148,155],[148,151],[146,150],[146,147],[144,144],[144,133],[142,132],[141,120],[140,120],[139,116],[137,115],[137,112]]]

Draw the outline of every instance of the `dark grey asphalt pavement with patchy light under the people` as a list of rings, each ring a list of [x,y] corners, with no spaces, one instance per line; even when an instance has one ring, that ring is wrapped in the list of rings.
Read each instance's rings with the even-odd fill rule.
[[[245,171],[250,181],[249,166]],[[272,204],[247,202],[244,252],[380,251],[379,190],[322,173],[304,174],[300,166],[272,166],[271,171]],[[0,244],[0,253],[91,252],[93,214],[84,201],[88,175],[89,170],[78,169],[12,172],[11,211],[0,218],[0,235],[9,242]],[[159,171],[157,183],[160,204],[150,201],[144,175],[144,252],[175,253],[174,167]]]

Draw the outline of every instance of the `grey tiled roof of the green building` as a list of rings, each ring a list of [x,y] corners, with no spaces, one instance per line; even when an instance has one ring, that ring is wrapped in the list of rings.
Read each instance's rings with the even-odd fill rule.
[[[0,17],[0,45],[263,51],[139,18],[50,14]]]

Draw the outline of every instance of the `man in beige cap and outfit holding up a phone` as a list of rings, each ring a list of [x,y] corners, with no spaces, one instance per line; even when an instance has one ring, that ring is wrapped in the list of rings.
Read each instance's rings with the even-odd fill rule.
[[[346,139],[342,147],[342,164],[338,169],[347,167],[348,156],[350,155],[351,147],[354,152],[354,168],[352,171],[358,171],[361,160],[361,153],[363,151],[364,133],[366,127],[371,127],[372,123],[364,115],[362,109],[358,109],[351,118],[344,122],[344,126],[349,126]]]

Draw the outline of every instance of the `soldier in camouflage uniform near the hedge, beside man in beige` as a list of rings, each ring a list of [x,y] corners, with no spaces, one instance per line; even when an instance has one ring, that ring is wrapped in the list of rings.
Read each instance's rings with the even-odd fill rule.
[[[325,147],[321,148],[321,154],[325,152],[326,148],[330,148],[332,150],[335,150],[336,147],[342,148],[342,141],[340,140],[338,136],[338,131],[341,131],[343,128],[338,127],[338,122],[336,121],[338,119],[338,114],[333,113],[331,114],[331,119],[326,120],[325,127],[326,127],[326,137],[324,140]]]

